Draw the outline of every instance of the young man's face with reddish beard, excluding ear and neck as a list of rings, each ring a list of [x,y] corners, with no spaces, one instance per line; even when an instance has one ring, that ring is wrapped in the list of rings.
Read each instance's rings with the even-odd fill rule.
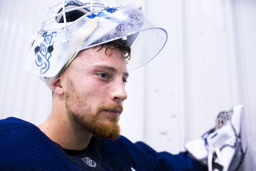
[[[121,51],[83,50],[61,75],[67,114],[82,129],[103,138],[119,135],[119,115],[128,77]],[[97,52],[98,51],[98,52]]]

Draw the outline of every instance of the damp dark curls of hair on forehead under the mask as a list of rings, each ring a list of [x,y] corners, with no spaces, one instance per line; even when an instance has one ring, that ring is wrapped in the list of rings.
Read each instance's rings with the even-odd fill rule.
[[[97,47],[100,47],[98,51],[100,51],[102,48],[105,48],[105,54],[106,51],[116,48],[122,52],[123,58],[125,58],[126,60],[129,60],[131,58],[131,48],[126,45],[126,40],[123,39],[116,39],[110,42],[106,42],[104,44],[96,46],[95,48]]]

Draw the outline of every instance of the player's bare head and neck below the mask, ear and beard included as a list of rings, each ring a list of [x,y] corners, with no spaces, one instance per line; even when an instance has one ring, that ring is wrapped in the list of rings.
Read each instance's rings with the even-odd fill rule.
[[[120,50],[81,51],[53,80],[52,111],[39,129],[66,149],[85,149],[93,135],[117,138],[128,77]]]

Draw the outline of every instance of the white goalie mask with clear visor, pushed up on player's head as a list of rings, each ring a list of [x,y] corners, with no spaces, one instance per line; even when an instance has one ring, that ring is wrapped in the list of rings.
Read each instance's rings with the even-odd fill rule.
[[[83,49],[116,39],[132,49],[129,71],[143,66],[164,47],[167,33],[132,4],[110,7],[99,1],[60,1],[49,7],[32,42],[25,70],[48,86]],[[135,46],[136,45],[136,46]],[[136,55],[136,47],[146,47]]]

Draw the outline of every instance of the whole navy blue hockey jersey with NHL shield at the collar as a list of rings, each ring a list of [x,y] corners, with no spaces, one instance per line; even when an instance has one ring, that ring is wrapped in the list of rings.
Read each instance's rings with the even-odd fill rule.
[[[0,170],[206,170],[187,153],[157,153],[143,142],[93,137],[70,155],[32,123],[0,120]]]

